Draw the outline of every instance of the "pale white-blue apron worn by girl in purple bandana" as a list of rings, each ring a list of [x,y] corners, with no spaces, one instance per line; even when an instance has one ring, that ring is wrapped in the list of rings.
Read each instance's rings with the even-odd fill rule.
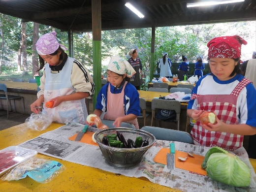
[[[49,64],[45,65],[44,103],[57,96],[66,96],[76,93],[71,83],[73,58],[68,57],[63,69],[59,73],[51,73]],[[88,116],[85,98],[80,100],[64,101],[59,106],[47,108],[44,105],[43,113],[53,117],[53,121],[66,121],[84,124]]]

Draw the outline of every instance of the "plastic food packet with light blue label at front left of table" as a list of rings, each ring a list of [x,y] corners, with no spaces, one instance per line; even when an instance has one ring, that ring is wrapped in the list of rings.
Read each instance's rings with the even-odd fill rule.
[[[9,170],[1,177],[1,180],[17,181],[29,176],[39,183],[48,183],[64,170],[64,165],[58,161],[32,157]]]

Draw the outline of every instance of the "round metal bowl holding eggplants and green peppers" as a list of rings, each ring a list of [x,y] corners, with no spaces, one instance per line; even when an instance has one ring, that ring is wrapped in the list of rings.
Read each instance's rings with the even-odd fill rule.
[[[110,147],[101,143],[103,136],[114,134],[116,131],[122,132],[126,140],[132,139],[134,142],[136,137],[141,136],[143,140],[148,139],[149,145],[140,148],[127,149]],[[143,155],[156,141],[156,137],[150,132],[133,128],[103,129],[96,132],[94,138],[107,163],[117,167],[131,167],[138,164],[142,160]]]

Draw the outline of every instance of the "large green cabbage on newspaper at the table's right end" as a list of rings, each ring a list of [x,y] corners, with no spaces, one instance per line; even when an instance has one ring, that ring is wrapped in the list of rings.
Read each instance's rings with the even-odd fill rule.
[[[247,187],[251,182],[249,167],[230,153],[213,153],[206,163],[207,175],[227,185]]]

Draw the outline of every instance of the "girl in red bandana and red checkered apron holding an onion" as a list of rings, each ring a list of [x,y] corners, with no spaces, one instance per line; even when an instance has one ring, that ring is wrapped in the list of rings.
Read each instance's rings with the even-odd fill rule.
[[[194,144],[234,150],[243,146],[244,135],[256,134],[256,89],[240,70],[238,35],[216,37],[207,44],[211,73],[196,83],[187,114],[196,121]],[[202,125],[203,111],[216,114],[216,124]]]

